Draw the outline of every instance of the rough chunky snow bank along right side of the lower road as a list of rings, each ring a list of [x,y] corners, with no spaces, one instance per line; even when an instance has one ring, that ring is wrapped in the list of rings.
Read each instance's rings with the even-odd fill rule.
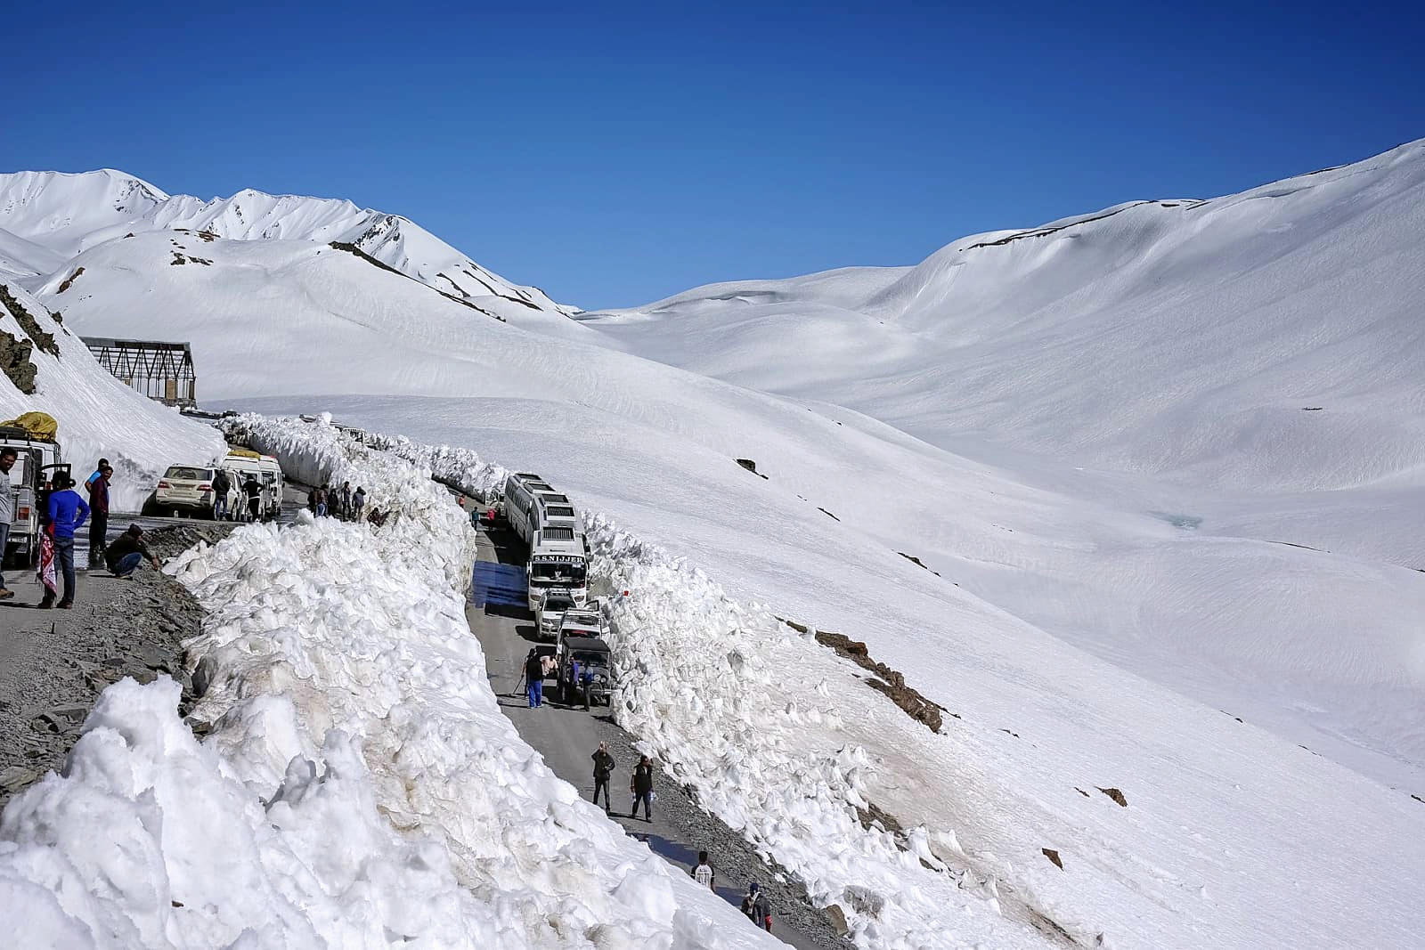
[[[594,575],[627,590],[610,600],[618,724],[704,808],[795,873],[815,903],[841,907],[862,946],[1040,946],[1000,916],[993,887],[940,860],[953,836],[862,826],[874,765],[841,739],[844,704],[825,679],[809,694],[788,689],[788,669],[842,678],[829,652],[607,517],[587,518],[587,531]]]

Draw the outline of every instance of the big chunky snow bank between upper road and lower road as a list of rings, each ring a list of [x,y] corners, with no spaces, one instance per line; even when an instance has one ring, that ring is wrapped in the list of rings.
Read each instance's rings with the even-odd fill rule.
[[[247,526],[167,570],[217,671],[123,682],[0,825],[0,927],[74,947],[752,947],[735,910],[559,781],[502,715],[459,588],[473,531],[429,473],[326,422],[247,420],[393,517]],[[100,843],[103,842],[103,843]]]

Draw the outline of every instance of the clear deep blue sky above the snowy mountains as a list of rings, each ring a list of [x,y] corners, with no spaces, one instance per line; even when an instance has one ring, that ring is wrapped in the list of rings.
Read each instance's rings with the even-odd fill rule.
[[[7,17],[0,169],[349,198],[594,308],[1425,135],[1418,3],[205,6]]]

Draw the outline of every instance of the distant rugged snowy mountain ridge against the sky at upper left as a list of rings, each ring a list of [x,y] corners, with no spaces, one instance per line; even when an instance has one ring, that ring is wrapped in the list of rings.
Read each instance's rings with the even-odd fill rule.
[[[204,201],[168,195],[110,168],[0,175],[0,266],[14,273],[48,273],[56,266],[53,258],[17,241],[73,258],[107,241],[148,231],[191,231],[204,241],[345,244],[442,293],[493,312],[512,306],[549,313],[574,309],[554,303],[539,288],[510,283],[486,271],[406,218],[349,201],[268,195],[251,188]]]

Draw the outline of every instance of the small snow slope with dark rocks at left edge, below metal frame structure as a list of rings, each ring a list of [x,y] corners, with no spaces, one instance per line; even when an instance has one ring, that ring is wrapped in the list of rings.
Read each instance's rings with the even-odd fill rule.
[[[207,464],[227,450],[212,427],[114,379],[78,336],[13,282],[0,283],[0,345],[9,338],[11,352],[28,343],[20,363],[33,366],[34,386],[26,393],[9,375],[0,376],[0,419],[31,410],[54,416],[64,461],[77,479],[108,459],[114,511],[138,511],[168,466]]]

